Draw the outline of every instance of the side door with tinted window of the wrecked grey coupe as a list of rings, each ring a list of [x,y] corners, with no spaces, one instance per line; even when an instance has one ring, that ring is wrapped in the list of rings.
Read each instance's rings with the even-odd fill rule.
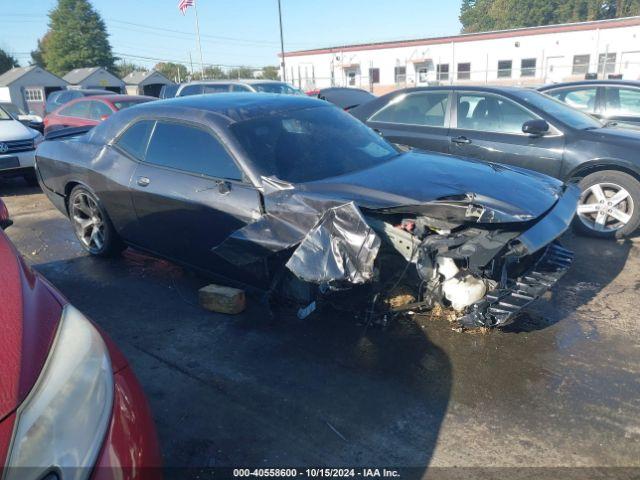
[[[224,271],[211,249],[261,214],[258,190],[220,139],[195,124],[157,121],[131,178],[132,239],[160,255]]]

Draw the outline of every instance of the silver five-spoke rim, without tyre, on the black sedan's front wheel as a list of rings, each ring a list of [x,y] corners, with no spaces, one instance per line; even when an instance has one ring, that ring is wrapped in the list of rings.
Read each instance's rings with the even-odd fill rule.
[[[578,218],[596,232],[615,232],[623,228],[633,215],[631,194],[615,183],[596,183],[582,192]]]

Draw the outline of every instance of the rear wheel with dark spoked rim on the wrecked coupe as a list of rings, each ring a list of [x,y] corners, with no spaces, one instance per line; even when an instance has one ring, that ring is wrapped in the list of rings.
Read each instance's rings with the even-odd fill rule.
[[[87,188],[76,186],[69,195],[69,220],[82,247],[92,255],[109,257],[124,244],[98,198]]]

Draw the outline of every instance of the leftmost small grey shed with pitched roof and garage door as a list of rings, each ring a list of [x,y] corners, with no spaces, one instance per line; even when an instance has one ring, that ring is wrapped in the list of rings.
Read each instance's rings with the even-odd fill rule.
[[[67,82],[44,68],[16,67],[0,75],[0,102],[42,115],[49,94],[66,87]]]

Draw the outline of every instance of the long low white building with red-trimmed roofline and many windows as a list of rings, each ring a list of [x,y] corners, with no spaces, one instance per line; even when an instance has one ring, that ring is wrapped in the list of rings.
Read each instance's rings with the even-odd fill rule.
[[[303,90],[490,83],[539,85],[622,75],[640,79],[640,17],[285,52]],[[281,72],[282,74],[282,72]]]

